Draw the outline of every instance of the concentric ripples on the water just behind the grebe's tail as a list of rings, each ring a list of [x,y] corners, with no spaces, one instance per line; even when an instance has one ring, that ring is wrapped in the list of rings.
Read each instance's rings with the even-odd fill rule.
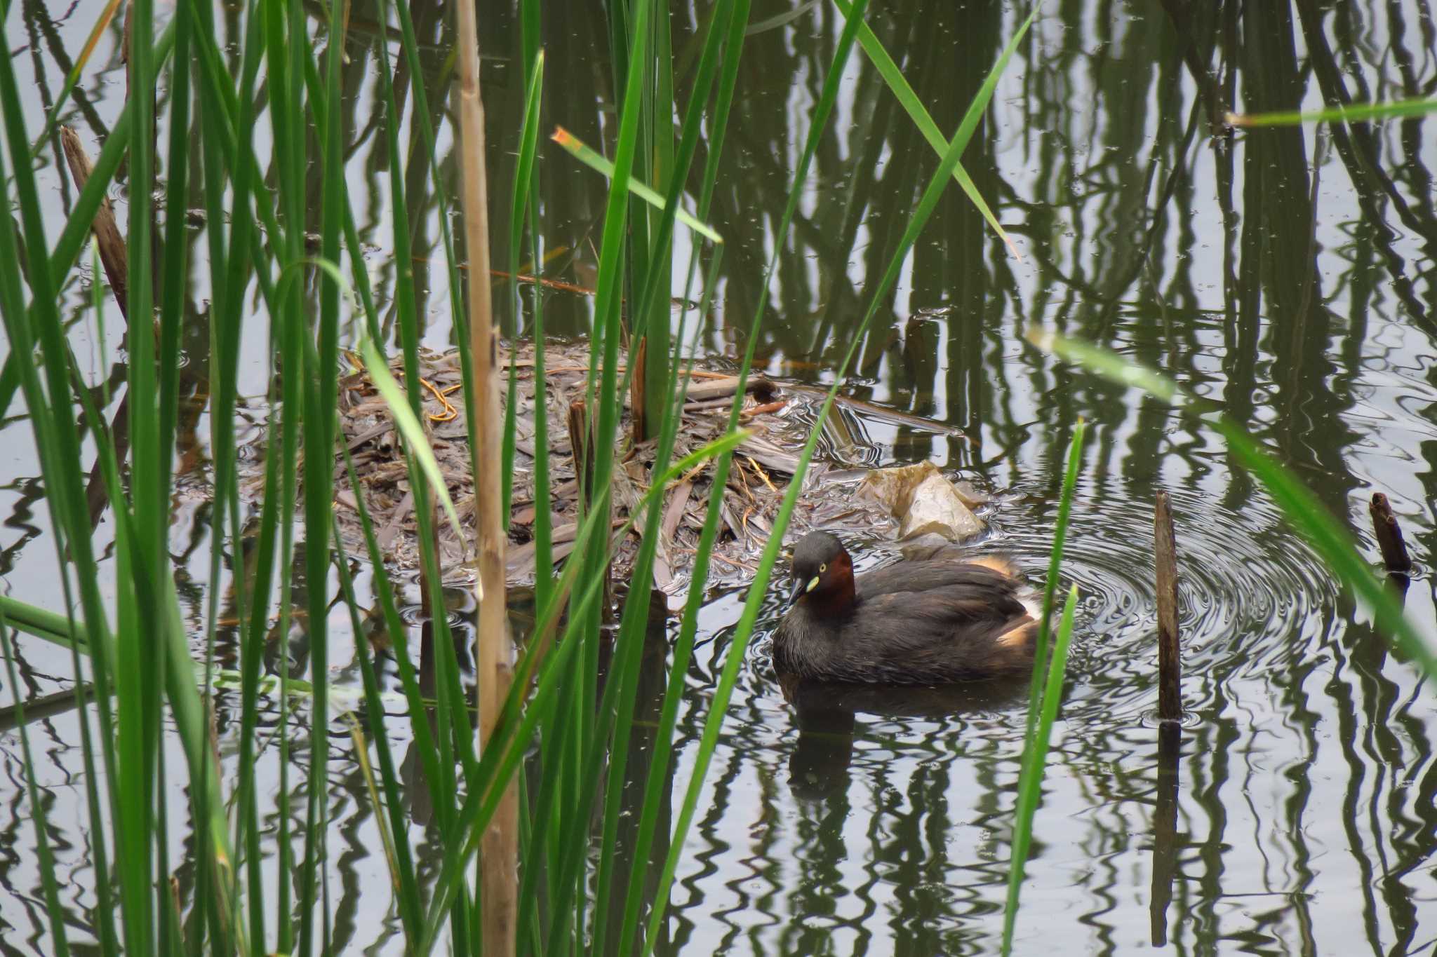
[[[1336,583],[1276,506],[1253,498],[1233,509],[1204,494],[1171,495],[1184,674],[1229,680],[1283,667],[1329,637]],[[1147,496],[1104,498],[1101,506],[1075,502],[1063,552],[1062,584],[1076,584],[1081,597],[1069,702],[1121,702],[1141,713],[1157,667],[1152,511]],[[1052,518],[1026,521],[1023,511],[1000,509],[992,547],[1040,581]]]

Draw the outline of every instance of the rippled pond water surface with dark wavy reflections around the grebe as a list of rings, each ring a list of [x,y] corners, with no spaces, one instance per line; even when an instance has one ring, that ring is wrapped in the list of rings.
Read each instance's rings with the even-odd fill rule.
[[[85,42],[93,6],[10,6],[4,36],[33,77],[26,90],[32,131]],[[388,158],[376,135],[384,118],[371,6],[355,10],[343,122],[356,218],[382,237]],[[545,24],[546,121],[601,143],[614,102],[608,27],[599,4],[570,6]],[[680,56],[706,11],[704,4],[674,6]],[[951,131],[1025,13],[997,3],[878,3],[869,22],[938,125]],[[227,39],[239,36],[237,16],[223,9]],[[451,47],[447,16],[447,4],[417,10],[421,43]],[[730,357],[741,352],[762,296],[787,176],[842,19],[829,4],[785,0],[756,3],[752,22],[711,217],[730,253],[703,340],[704,353]],[[480,23],[490,169],[503,184],[491,195],[507,195],[522,112],[513,10],[483,3]],[[102,37],[68,108],[68,122],[92,151],[124,99],[118,42],[116,29]],[[1221,403],[1349,524],[1374,568],[1367,498],[1387,492],[1420,562],[1407,608],[1430,633],[1433,121],[1232,133],[1220,118],[1229,105],[1318,108],[1430,96],[1434,88],[1437,24],[1418,0],[1050,1],[964,155],[1023,258],[1010,257],[950,189],[859,347],[845,395],[963,430],[957,438],[858,416],[865,458],[930,459],[994,491],[992,535],[981,548],[1012,555],[1033,580],[1048,562],[1072,423],[1079,416],[1091,423],[1063,570],[1081,590],[1078,637],[1036,816],[1020,953],[1400,954],[1430,953],[1437,940],[1437,715],[1420,671],[1388,650],[1219,439],[1025,340],[1033,329],[1082,336]],[[257,138],[262,151],[266,135]],[[447,155],[447,115],[440,138]],[[59,165],[56,149],[42,152],[56,232],[73,199]],[[867,306],[865,290],[934,165],[912,123],[855,55],[785,241],[770,319],[759,333],[760,367],[800,382],[832,380]],[[540,176],[546,247],[566,251],[546,274],[592,286],[606,185],[553,148],[545,151]],[[445,347],[453,327],[444,271],[431,264],[441,255],[435,207],[418,191],[411,204],[424,214],[412,232],[425,340]],[[496,235],[504,234],[503,215]],[[680,263],[685,241],[681,235]],[[198,254],[203,242],[194,248]],[[496,263],[503,255],[496,250]],[[391,251],[376,247],[371,265],[376,287],[392,288]],[[72,283],[66,314],[78,316],[88,296]],[[185,350],[195,402],[187,422],[194,428],[181,449],[188,494],[177,498],[172,539],[181,601],[197,634],[210,590],[230,594],[230,580],[210,581],[207,571],[205,297],[200,283],[190,290]],[[583,296],[549,291],[546,321],[582,336],[591,306]],[[75,341],[82,362],[95,356],[98,370],[96,343],[79,333]],[[109,343],[112,354],[116,346],[118,339]],[[241,370],[241,392],[260,422],[269,373],[259,336],[246,340]],[[59,610],[65,598],[40,468],[19,412],[17,403],[0,422],[0,572],[7,593]],[[1158,489],[1173,495],[1183,575],[1190,719],[1175,789],[1171,776],[1160,779],[1151,722]],[[98,541],[111,537],[102,519]],[[861,537],[849,545],[861,565],[894,554],[890,544]],[[368,574],[359,587],[372,593]],[[412,597],[412,583],[408,591]],[[675,782],[687,781],[693,766],[743,597],[716,593],[706,608],[680,716]],[[779,598],[775,588],[764,633]],[[471,607],[457,604],[463,624]],[[342,608],[331,624],[336,641],[348,643]],[[664,679],[662,643],[675,630],[674,621],[654,623],[658,654],[648,680]],[[19,651],[24,687],[7,687],[0,700],[69,686],[68,653],[24,638]],[[343,663],[336,680],[358,684],[349,647],[336,647],[332,660]],[[973,686],[941,700],[875,694],[799,715],[760,637],[724,723],[661,950],[996,953],[1023,709],[1022,687]],[[277,712],[266,712],[270,730],[276,719]],[[392,727],[402,750],[407,737]],[[65,904],[83,940],[95,895],[85,831],[73,824],[83,819],[85,801],[78,726],[72,712],[59,710],[34,719],[32,730],[69,888]],[[224,750],[236,733],[233,712],[221,709],[218,730],[221,755],[233,763]],[[303,740],[299,723],[290,733]],[[399,953],[374,811],[354,743],[338,723],[333,749],[336,943]],[[274,752],[262,760],[262,786],[273,792],[280,786]],[[10,811],[0,825],[0,953],[43,951],[34,835],[19,739],[9,730],[0,735],[0,762]],[[302,773],[289,786],[300,788]],[[444,848],[424,841],[425,796],[415,788],[405,799],[418,854],[437,859]],[[182,801],[178,789],[175,801]],[[1173,801],[1175,819],[1167,826]],[[177,861],[185,851],[181,836]],[[187,877],[181,868],[182,882]]]

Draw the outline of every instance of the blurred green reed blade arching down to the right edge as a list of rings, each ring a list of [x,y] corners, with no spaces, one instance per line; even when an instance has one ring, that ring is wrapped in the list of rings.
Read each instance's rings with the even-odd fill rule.
[[[1372,570],[1358,551],[1352,535],[1246,429],[1219,413],[1213,403],[1191,396],[1171,379],[1122,356],[1048,331],[1033,331],[1029,334],[1029,340],[1039,349],[1083,366],[1111,382],[1135,386],[1177,409],[1187,410],[1221,435],[1227,448],[1267,489],[1288,524],[1312,545],[1318,557],[1342,584],[1372,608],[1378,628],[1390,637],[1401,653],[1417,660],[1423,671],[1437,676],[1437,654],[1428,647],[1413,621],[1407,618],[1397,600],[1372,575]]]

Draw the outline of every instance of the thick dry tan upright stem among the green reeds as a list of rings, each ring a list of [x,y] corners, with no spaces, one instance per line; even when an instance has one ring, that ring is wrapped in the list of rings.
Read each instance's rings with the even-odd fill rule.
[[[489,745],[513,680],[513,644],[504,614],[503,422],[499,415],[499,336],[489,287],[489,188],[484,172],[484,106],[479,95],[479,24],[474,0],[458,4],[460,155],[463,156],[464,247],[468,270],[468,334],[474,357],[470,403],[476,435],[474,498],[479,539],[479,740]],[[510,782],[484,832],[480,901],[484,954],[514,953],[519,908],[519,795]]]

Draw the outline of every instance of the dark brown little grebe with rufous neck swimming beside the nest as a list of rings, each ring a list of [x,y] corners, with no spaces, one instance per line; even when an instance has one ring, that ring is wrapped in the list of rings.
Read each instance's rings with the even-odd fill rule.
[[[854,578],[844,544],[809,532],[793,550],[789,610],[773,634],[782,674],[943,684],[1033,667],[1040,611],[1002,558],[901,561]]]

